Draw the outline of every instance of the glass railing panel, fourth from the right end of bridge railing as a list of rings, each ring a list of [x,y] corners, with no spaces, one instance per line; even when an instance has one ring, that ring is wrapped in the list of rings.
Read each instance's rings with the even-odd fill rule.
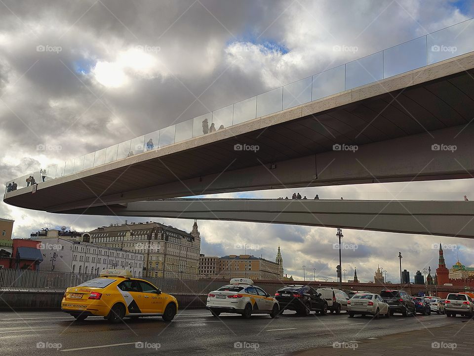
[[[346,90],[346,67],[328,69],[313,76],[313,100]]]

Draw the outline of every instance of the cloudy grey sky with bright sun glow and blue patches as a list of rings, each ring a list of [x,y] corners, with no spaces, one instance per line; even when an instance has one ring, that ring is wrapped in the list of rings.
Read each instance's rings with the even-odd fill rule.
[[[0,180],[146,134],[474,17],[472,1],[404,0],[0,0]],[[336,46],[336,47],[335,47]],[[334,48],[346,46],[349,51]],[[41,48],[45,50],[41,51]],[[38,145],[60,149],[38,150]],[[345,199],[474,199],[471,180],[300,189]],[[259,191],[225,196],[291,196]],[[42,227],[90,230],[126,218],[32,212],[0,203],[14,237]],[[130,219],[129,221],[139,221]],[[149,219],[142,219],[147,221]],[[191,221],[167,220],[190,230]],[[285,272],[335,278],[334,229],[199,222],[206,255],[247,252]],[[398,251],[411,274],[474,241],[345,230],[347,275],[373,279],[379,264],[398,280]]]

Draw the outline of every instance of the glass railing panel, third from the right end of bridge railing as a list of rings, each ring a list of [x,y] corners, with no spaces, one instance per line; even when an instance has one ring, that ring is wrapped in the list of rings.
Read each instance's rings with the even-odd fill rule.
[[[373,83],[383,78],[383,52],[377,52],[346,64],[346,90]]]

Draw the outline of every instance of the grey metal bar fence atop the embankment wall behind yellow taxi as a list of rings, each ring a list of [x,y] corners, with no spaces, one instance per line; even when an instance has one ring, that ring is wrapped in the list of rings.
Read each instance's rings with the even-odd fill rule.
[[[63,292],[68,287],[77,286],[98,277],[95,273],[73,273],[39,271],[30,269],[0,269],[0,291]],[[142,277],[156,285],[165,293],[207,294],[228,281],[190,280],[174,278]]]

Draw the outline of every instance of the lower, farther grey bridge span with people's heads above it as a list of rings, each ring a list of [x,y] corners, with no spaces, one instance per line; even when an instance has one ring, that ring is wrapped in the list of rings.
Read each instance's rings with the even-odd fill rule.
[[[474,238],[472,201],[169,199],[65,211]]]

